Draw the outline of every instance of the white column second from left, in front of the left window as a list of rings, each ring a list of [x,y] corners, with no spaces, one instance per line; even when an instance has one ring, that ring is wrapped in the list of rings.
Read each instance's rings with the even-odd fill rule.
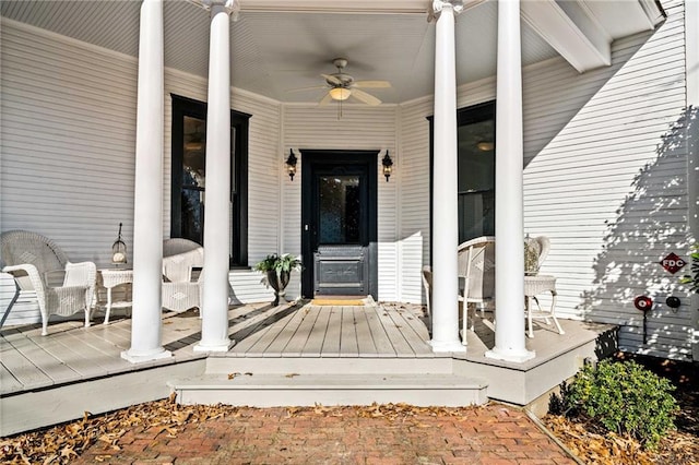
[[[204,290],[201,341],[196,351],[227,351],[230,226],[230,19],[229,2],[211,2],[204,203]]]

